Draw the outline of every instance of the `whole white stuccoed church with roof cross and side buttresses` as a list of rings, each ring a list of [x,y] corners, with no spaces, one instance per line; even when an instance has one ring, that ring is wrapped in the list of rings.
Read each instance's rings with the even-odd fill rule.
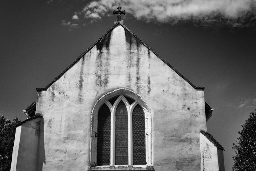
[[[224,171],[213,109],[121,20],[23,112],[11,171]]]

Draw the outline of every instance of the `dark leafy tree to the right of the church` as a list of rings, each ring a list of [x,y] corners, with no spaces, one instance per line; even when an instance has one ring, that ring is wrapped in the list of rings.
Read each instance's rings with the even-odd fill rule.
[[[241,126],[240,136],[233,143],[236,156],[232,171],[256,171],[256,110]]]

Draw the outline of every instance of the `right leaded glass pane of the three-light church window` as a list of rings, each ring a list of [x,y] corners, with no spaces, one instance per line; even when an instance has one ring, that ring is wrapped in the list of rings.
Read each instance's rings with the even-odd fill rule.
[[[132,155],[133,164],[146,164],[145,116],[137,104],[132,112]]]

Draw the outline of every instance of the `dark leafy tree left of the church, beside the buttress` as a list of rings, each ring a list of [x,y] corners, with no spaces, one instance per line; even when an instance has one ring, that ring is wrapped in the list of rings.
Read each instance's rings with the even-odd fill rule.
[[[11,169],[12,148],[15,139],[15,125],[20,123],[17,117],[13,122],[2,115],[0,117],[0,171]]]

